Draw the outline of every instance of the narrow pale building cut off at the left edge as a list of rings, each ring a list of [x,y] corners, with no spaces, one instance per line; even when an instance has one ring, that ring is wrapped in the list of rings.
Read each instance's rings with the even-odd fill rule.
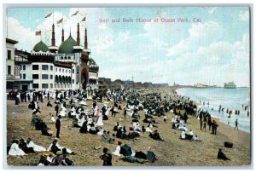
[[[6,38],[6,89],[14,89],[15,80],[15,44],[18,41]]]

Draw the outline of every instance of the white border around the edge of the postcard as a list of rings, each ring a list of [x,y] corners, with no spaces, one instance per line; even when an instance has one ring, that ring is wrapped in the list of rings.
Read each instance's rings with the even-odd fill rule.
[[[27,7],[27,6],[31,6],[31,4],[27,4],[27,3],[44,3],[44,6],[55,6],[55,5],[63,5],[63,4],[66,4],[67,6],[75,6],[76,4],[74,4],[74,3],[85,3],[85,1],[83,1],[83,0],[72,0],[72,1],[65,1],[65,2],[63,2],[63,0],[61,1],[61,3],[53,3],[52,2],[52,0],[40,0],[40,1],[32,1],[32,0],[23,0],[22,1],[22,3],[20,2],[20,0],[3,0],[3,2],[2,2],[2,7],[1,7],[1,11],[0,11],[0,19],[3,19],[3,14],[4,14],[4,12],[3,12],[3,3],[19,3],[19,6],[24,6],[24,7]],[[49,4],[49,3],[51,3],[51,4]],[[143,2],[143,1],[141,1],[141,0],[130,0],[130,1],[127,1],[127,0],[125,0],[125,1],[122,1],[122,2],[119,2],[119,1],[117,1],[117,0],[110,0],[110,1],[108,1],[108,2],[106,2],[106,1],[103,1],[103,0],[88,0],[88,1],[86,1],[86,3],[90,3],[90,6],[117,6],[117,5],[114,5],[113,3],[119,3],[119,5],[118,6],[122,6],[122,5],[120,5],[120,3],[125,3],[124,5],[125,6],[131,6],[131,5],[133,5],[132,3],[134,3],[135,5],[137,4],[137,5],[139,5],[139,6],[143,6],[143,3],[154,3],[154,4],[149,4],[149,5],[156,5],[156,4],[160,4],[160,3],[166,3],[166,4],[170,4],[170,5],[175,5],[175,6],[177,6],[177,5],[184,5],[184,6],[195,6],[195,5],[201,5],[200,3],[202,3],[202,4],[205,4],[205,5],[207,5],[207,6],[211,6],[211,4],[209,4],[209,3],[215,3],[215,4],[212,4],[212,6],[216,6],[216,3],[218,3],[218,5],[221,5],[221,4],[223,4],[224,5],[224,3],[225,4],[227,4],[227,3],[230,3],[230,5],[241,5],[241,4],[244,4],[244,3],[251,3],[252,4],[252,6],[253,6],[253,0],[238,0],[238,1],[236,1],[236,2],[234,2],[234,0],[233,1],[228,1],[228,0],[215,0],[215,1],[213,1],[213,0],[208,0],[207,2],[206,1],[202,1],[202,0],[197,0],[196,2],[194,1],[193,3],[191,2],[191,0],[189,1],[189,0],[183,0],[183,2],[174,2],[174,4],[171,2],[171,1],[168,1],[168,0],[157,0],[157,1],[146,1],[146,2]],[[112,3],[112,4],[109,4],[109,3]],[[175,4],[176,3],[176,4]],[[178,3],[178,4],[177,4]],[[186,4],[184,4],[184,3],[186,3]],[[207,4],[206,4],[207,3]],[[13,4],[13,5],[15,5],[15,6],[17,6],[17,4]],[[147,4],[148,5],[148,4]],[[38,4],[34,4],[33,6],[38,6]],[[252,16],[252,21],[254,21],[254,19],[256,19],[255,18],[255,13],[253,13],[253,16]],[[254,23],[254,22],[253,22]],[[253,24],[252,23],[252,24]],[[3,28],[3,20],[0,20],[0,24],[1,24],[1,26],[2,26],[2,28]],[[253,26],[253,25],[252,25]],[[253,27],[253,32],[254,32],[254,27]],[[3,56],[3,43],[5,43],[5,38],[3,37],[3,32],[1,33],[1,36],[0,36],[0,39],[2,39],[2,42],[1,42],[1,48],[2,49],[0,49],[0,55],[2,55],[2,57],[0,58],[0,64],[2,65],[2,68],[0,68],[0,75],[3,77],[3,78],[5,78],[5,76],[3,76],[3,73],[4,73],[4,69],[5,69],[5,61],[4,61],[4,56]],[[253,35],[252,35],[252,43],[253,43]],[[252,50],[254,49],[254,44],[253,44],[253,46],[252,46]],[[252,60],[253,60],[253,52],[252,52]],[[251,67],[252,67],[252,83],[251,83],[251,85],[252,85],[252,107],[254,107],[254,102],[253,102],[253,97],[254,97],[254,93],[253,93],[253,86],[254,86],[254,81],[255,80],[253,80],[253,66],[255,65],[255,61],[252,61],[252,64],[251,64]],[[5,83],[3,82],[3,80],[2,80],[2,82],[1,82],[1,85],[0,85],[0,90],[3,92],[3,89],[5,88]],[[0,96],[0,110],[1,110],[1,115],[5,115],[5,112],[6,112],[6,98],[5,98],[5,94],[4,93],[2,93],[2,95],[3,96]],[[5,101],[5,103],[3,102],[3,101]],[[253,111],[252,111],[252,113],[253,113]],[[3,124],[3,118],[0,118],[1,120],[1,127],[4,127],[4,124]],[[5,122],[4,122],[5,123]],[[253,118],[253,124],[255,123],[255,118]],[[1,130],[3,130],[2,128],[1,128]],[[3,133],[1,133],[1,134],[3,134]],[[252,138],[252,140],[254,139],[254,136],[255,136],[255,134],[253,133],[253,138]],[[2,138],[3,139],[3,138]],[[2,153],[3,153],[3,144],[4,144],[4,141],[3,142],[0,142],[0,147],[2,148]],[[253,142],[253,146],[252,146],[253,148],[254,148],[254,142]],[[253,151],[252,151],[253,152]],[[254,154],[253,154],[254,155]],[[0,157],[0,165],[1,165],[1,168],[3,169],[3,154],[2,154],[2,157]],[[255,159],[253,159],[253,163],[252,163],[252,165],[256,165],[255,164]],[[90,169],[90,167],[88,167],[89,169]],[[178,169],[178,170],[175,170],[175,171],[177,171],[177,172],[183,172],[183,171],[195,171],[195,172],[199,172],[199,171],[210,171],[210,172],[216,172],[216,171],[220,171],[220,172],[227,172],[227,171],[230,171],[230,169],[232,169],[231,171],[232,172],[238,172],[238,171],[241,171],[240,169],[243,169],[243,167],[239,167],[239,168],[237,168],[237,167],[229,167],[229,168],[226,168],[226,167],[212,167],[212,168],[209,168],[209,167],[207,167],[207,169],[212,169],[212,170],[194,170],[196,167],[130,167],[130,168],[128,168],[128,169],[138,169],[140,172],[141,171],[143,171],[143,170],[141,170],[141,169],[148,169],[148,168],[150,168],[150,170],[146,170],[147,172],[155,172],[155,171],[159,171],[159,170],[154,170],[154,169]],[[27,169],[27,168],[26,168]],[[28,168],[29,169],[29,168]],[[95,168],[94,168],[95,169]],[[96,168],[97,169],[97,168]],[[120,171],[120,170],[106,170],[106,168],[104,167],[99,167],[98,169],[100,169],[100,170],[92,170],[93,172],[102,172],[102,171],[104,171],[104,172],[113,172],[113,171]],[[103,170],[104,169],[104,170]],[[134,170],[126,170],[126,167],[115,167],[115,169],[122,169],[121,171],[123,172],[131,172],[131,171],[134,171]],[[197,169],[198,169],[198,167],[197,167]],[[201,169],[204,169],[203,167],[201,167]],[[214,169],[224,169],[224,170],[214,170]],[[233,169],[238,169],[238,170],[233,170]],[[253,167],[252,167],[252,169],[253,169]],[[5,171],[9,171],[9,170],[4,170],[4,172]],[[23,171],[29,171],[29,170],[11,170],[12,172],[14,171],[14,172],[23,172]],[[32,170],[32,171],[35,171],[35,170]],[[45,170],[36,170],[36,171],[45,171]],[[47,170],[47,171],[55,171],[55,170]],[[69,170],[61,170],[61,172],[67,172],[67,171],[69,171]],[[75,171],[89,171],[89,170],[75,170]],[[145,171],[145,170],[144,170]],[[164,172],[170,172],[169,170],[163,170]],[[173,171],[173,170],[171,170],[171,171]],[[244,170],[243,170],[244,171]],[[253,171],[253,170],[246,170],[246,171]]]

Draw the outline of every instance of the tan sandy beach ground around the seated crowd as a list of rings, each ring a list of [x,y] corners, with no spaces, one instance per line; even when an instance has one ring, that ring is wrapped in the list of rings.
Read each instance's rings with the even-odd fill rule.
[[[166,95],[168,100],[171,96],[172,99],[176,99],[177,95],[173,95],[171,89],[145,89],[142,94],[148,92],[160,92],[162,96]],[[54,100],[50,100],[51,103]],[[13,137],[27,138],[31,137],[35,143],[48,148],[50,143],[55,139],[54,136],[42,136],[41,131],[34,130],[34,127],[30,125],[32,120],[32,110],[28,109],[28,102],[20,103],[15,105],[15,101],[7,101],[7,146],[11,145]],[[49,113],[55,115],[55,104],[54,107],[46,107],[47,99],[44,99],[44,103],[39,102],[41,107],[40,118],[49,126],[51,130],[55,130],[55,124],[50,124]],[[87,101],[87,109],[91,110],[92,101]],[[99,108],[102,108],[102,103],[97,103]],[[113,103],[108,104],[112,106]],[[122,107],[125,103],[122,104]],[[69,112],[69,107],[67,107]],[[183,113],[183,111],[181,111]],[[148,124],[143,123],[144,112],[140,111],[141,118],[139,119],[141,126]],[[154,141],[148,136],[148,132],[145,134],[141,133],[140,137],[136,140],[119,140],[123,144],[131,145],[134,151],[143,151],[146,153],[149,149],[154,152],[157,156],[155,163],[128,163],[119,159],[117,156],[113,156],[114,166],[242,166],[249,165],[251,163],[251,137],[250,134],[241,131],[234,130],[233,127],[223,124],[217,120],[218,130],[217,135],[212,135],[211,131],[200,130],[199,120],[189,115],[188,119],[188,130],[194,130],[195,135],[199,136],[202,141],[188,141],[180,140],[180,131],[172,130],[172,119],[173,113],[167,112],[167,123],[164,123],[163,117],[155,117],[156,121],[159,122],[158,130],[160,136],[165,141]],[[110,134],[113,134],[113,125],[119,121],[119,123],[126,127],[129,131],[131,126],[131,117],[126,120],[120,121],[119,118],[123,118],[123,111],[120,111],[114,118],[111,115],[107,121],[103,121],[104,130],[109,130]],[[81,134],[79,128],[72,127],[73,119],[65,118],[61,120],[61,139],[59,143],[63,147],[72,149],[77,155],[68,155],[69,159],[72,159],[75,165],[79,166],[101,166],[102,160],[99,158],[102,155],[102,148],[108,147],[112,153],[114,151],[113,144],[109,144],[101,141],[101,136]],[[115,133],[115,132],[114,132]],[[233,148],[224,147],[224,141],[230,141],[234,143]],[[94,147],[102,147],[100,149],[94,149]],[[222,148],[223,152],[230,158],[229,161],[217,159],[218,148]],[[9,165],[32,165],[39,161],[41,153],[29,154],[24,158],[20,157],[8,157],[7,163]]]

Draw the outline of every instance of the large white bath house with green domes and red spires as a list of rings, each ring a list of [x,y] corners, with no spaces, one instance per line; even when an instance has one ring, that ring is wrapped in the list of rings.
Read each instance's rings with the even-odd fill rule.
[[[78,24],[77,39],[71,33],[61,45],[55,45],[55,26],[52,26],[51,45],[38,42],[31,53],[15,50],[15,66],[20,72],[19,89],[86,89],[98,88],[99,66],[90,57],[87,29],[84,30],[84,47],[80,45]]]

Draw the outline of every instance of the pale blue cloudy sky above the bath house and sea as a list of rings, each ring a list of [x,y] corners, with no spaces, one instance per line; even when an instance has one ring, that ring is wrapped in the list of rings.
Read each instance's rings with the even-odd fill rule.
[[[78,15],[74,15],[79,10]],[[47,14],[54,12],[49,18]],[[81,20],[86,16],[86,21]],[[63,25],[56,21],[64,19]],[[133,22],[123,22],[133,19]],[[137,18],[151,22],[137,22]],[[188,22],[178,22],[178,19]],[[112,20],[119,19],[120,22]],[[158,19],[158,22],[154,22]],[[160,22],[174,19],[175,22]],[[200,22],[196,19],[200,19]],[[108,20],[108,22],[101,22]],[[71,32],[81,44],[88,31],[91,58],[99,77],[160,84],[250,85],[250,34],[247,7],[159,7],[8,9],[7,37],[17,49],[31,51],[40,41],[50,45],[55,23],[56,45]],[[42,37],[35,36],[41,31]]]

